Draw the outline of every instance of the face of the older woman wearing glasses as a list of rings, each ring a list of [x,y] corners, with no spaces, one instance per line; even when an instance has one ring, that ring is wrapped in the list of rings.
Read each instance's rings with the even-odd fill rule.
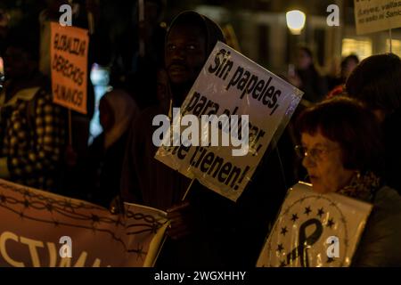
[[[332,142],[320,132],[314,135],[302,133],[301,141],[307,152],[302,165],[307,168],[314,191],[339,191],[349,183],[355,171],[343,167],[338,142]]]

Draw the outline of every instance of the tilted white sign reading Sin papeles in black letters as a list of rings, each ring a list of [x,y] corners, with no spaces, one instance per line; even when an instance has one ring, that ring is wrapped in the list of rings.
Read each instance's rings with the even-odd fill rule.
[[[176,110],[172,132],[168,130],[164,136],[164,145],[155,158],[236,201],[274,135],[290,120],[302,94],[282,78],[217,42],[185,98],[181,113]],[[213,121],[211,130],[209,123],[204,124],[208,122],[205,116]],[[221,118],[221,125],[217,118]],[[184,132],[182,126],[188,126]],[[190,144],[183,138],[185,131],[192,133],[187,136],[194,139]],[[215,134],[218,143],[213,139]],[[228,141],[231,143],[225,143]]]

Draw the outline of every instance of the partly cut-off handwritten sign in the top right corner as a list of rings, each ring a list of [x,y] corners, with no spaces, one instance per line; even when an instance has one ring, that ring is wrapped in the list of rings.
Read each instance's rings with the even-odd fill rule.
[[[356,34],[401,27],[401,1],[354,0]]]

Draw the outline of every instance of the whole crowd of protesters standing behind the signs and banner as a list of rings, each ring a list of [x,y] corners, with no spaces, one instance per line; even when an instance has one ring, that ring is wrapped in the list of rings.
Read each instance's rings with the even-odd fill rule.
[[[241,198],[234,203],[195,181],[183,200],[191,180],[154,159],[152,119],[184,102],[214,45],[225,42],[222,29],[197,12],[178,14],[166,28],[160,25],[161,2],[149,0],[150,20],[125,34],[127,45],[116,40],[113,46],[98,32],[103,24],[94,2],[82,5],[77,22],[91,30],[88,63],[109,65],[113,85],[99,105],[103,133],[87,145],[94,99],[88,100],[87,115],[73,113],[73,142],[67,111],[52,100],[48,23],[63,1],[49,3],[37,23],[0,30],[0,178],[117,212],[121,201],[165,210],[171,226],[158,265],[178,267],[255,265],[287,190],[307,180],[314,191],[370,201],[377,210],[355,265],[401,265],[400,247],[393,248],[401,238],[397,55],[361,62],[350,55],[339,75],[324,77],[312,51],[300,46],[285,78],[305,92],[304,101]],[[94,20],[82,16],[89,14],[85,9]]]

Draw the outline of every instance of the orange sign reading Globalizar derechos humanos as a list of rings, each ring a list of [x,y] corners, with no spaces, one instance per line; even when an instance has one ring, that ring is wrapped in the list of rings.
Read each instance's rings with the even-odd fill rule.
[[[89,37],[83,28],[51,23],[53,102],[86,114]]]

